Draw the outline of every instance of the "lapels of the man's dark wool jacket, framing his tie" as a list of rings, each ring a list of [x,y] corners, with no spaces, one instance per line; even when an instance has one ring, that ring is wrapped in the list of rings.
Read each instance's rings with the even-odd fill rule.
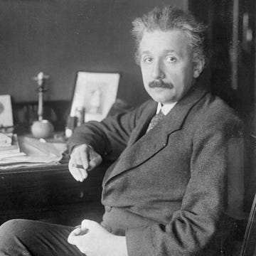
[[[205,94],[206,90],[202,87],[192,88],[188,94],[174,106],[169,114],[167,114],[164,119],[161,119],[159,124],[156,124],[154,129],[151,129],[136,141],[139,134],[145,131],[146,127],[149,125],[150,117],[152,117],[155,112],[149,111],[146,117],[142,117],[142,122],[139,122],[136,128],[137,131],[134,131],[134,137],[131,137],[131,142],[127,145],[127,148],[122,152],[121,156],[119,156],[119,161],[114,166],[110,176],[105,180],[105,184],[110,181],[111,178],[114,178],[114,176],[139,166],[139,164],[142,164],[163,149],[167,144],[169,134],[181,129],[188,112]],[[156,111],[156,107],[154,110]]]

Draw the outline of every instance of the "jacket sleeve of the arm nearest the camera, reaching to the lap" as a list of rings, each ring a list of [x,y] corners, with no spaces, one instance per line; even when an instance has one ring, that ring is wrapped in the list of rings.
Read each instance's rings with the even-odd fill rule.
[[[210,255],[211,250],[206,250],[220,234],[228,203],[228,144],[234,139],[242,142],[241,131],[242,123],[237,118],[224,122],[208,118],[197,127],[192,142],[191,178],[181,209],[167,224],[128,228],[129,256]]]

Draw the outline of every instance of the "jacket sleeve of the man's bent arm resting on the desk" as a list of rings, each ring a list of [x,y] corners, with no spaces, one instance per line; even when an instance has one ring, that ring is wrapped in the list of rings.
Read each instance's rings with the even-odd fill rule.
[[[148,102],[131,112],[119,113],[107,117],[102,122],[90,121],[75,129],[68,141],[68,151],[74,146],[89,144],[101,156],[107,159],[117,159],[127,146],[132,130]]]

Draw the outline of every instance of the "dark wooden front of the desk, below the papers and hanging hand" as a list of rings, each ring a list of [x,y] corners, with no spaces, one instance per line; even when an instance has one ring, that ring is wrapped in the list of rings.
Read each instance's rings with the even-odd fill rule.
[[[27,218],[77,225],[81,216],[100,221],[106,168],[94,169],[82,183],[71,176],[67,164],[0,171],[0,223]]]

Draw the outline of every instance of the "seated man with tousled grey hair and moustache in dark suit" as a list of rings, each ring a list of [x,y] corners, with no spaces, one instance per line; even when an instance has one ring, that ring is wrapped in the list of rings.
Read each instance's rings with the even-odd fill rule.
[[[196,83],[206,58],[203,26],[193,16],[156,8],[133,25],[153,100],[88,122],[69,142],[77,181],[102,158],[116,159],[102,183],[102,223],[83,220],[74,229],[11,220],[0,228],[0,255],[218,254],[228,220],[229,144],[240,140],[242,124]]]

